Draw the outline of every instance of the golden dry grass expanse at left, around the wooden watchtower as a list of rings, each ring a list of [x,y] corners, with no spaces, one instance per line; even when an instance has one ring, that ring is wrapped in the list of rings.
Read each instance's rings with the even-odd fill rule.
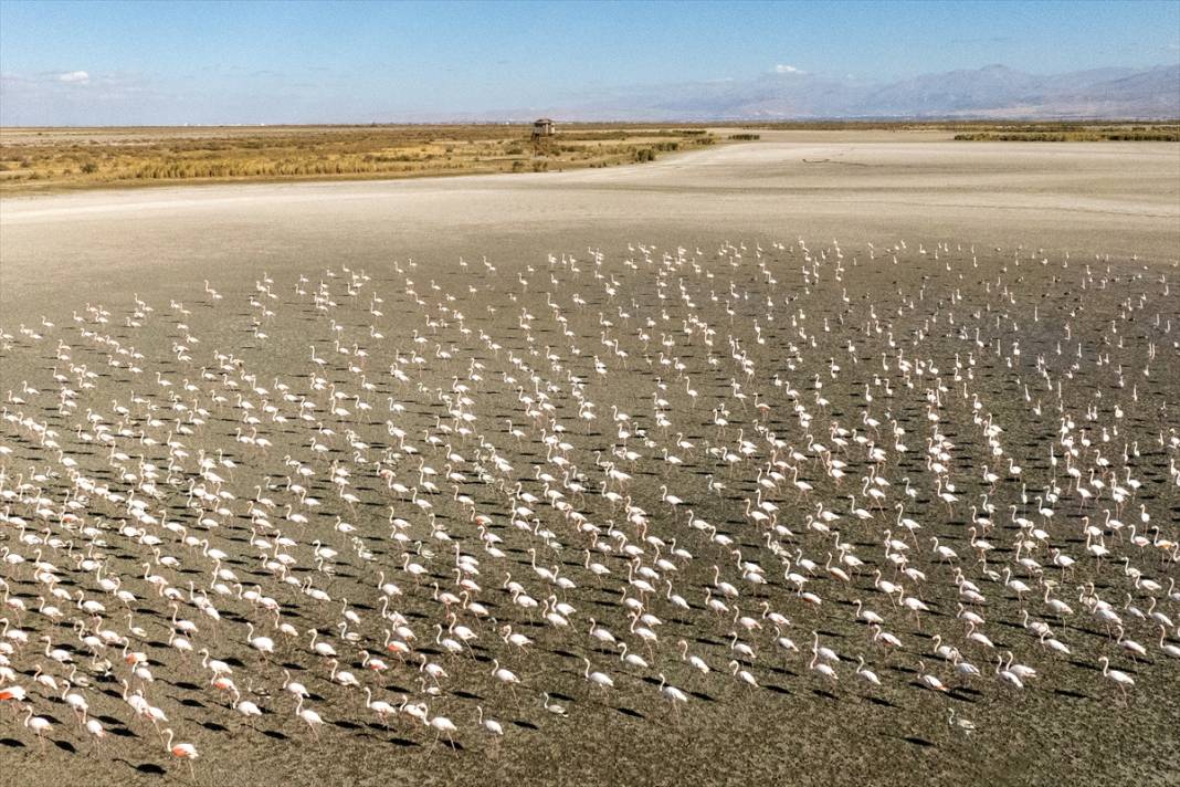
[[[0,130],[0,194],[175,182],[539,172],[654,160],[702,129],[527,125]]]

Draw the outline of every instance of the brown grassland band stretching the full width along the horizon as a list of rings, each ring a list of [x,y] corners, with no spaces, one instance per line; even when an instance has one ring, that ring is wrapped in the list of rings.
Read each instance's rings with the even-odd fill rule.
[[[767,132],[961,142],[1180,142],[1175,123],[796,122],[0,129],[0,194],[184,183],[418,178],[647,163]]]

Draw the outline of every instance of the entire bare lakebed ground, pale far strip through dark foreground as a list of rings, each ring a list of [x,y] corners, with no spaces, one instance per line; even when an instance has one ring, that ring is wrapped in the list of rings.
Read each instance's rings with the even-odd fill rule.
[[[30,635],[7,657],[53,727],[42,752],[25,714],[0,707],[4,783],[191,783],[122,699],[124,678],[197,747],[202,785],[1175,783],[1180,660],[1149,616],[1169,617],[1175,645],[1178,257],[1180,146],[1167,144],[766,133],[629,169],[6,199],[0,545],[25,562],[0,568],[24,608],[2,615]],[[63,389],[76,405],[61,406]],[[79,491],[78,477],[93,484]],[[628,498],[642,512],[629,516]],[[905,532],[897,505],[920,530]],[[994,547],[985,563],[972,526]],[[1112,555],[1096,559],[1094,544]],[[478,573],[457,568],[457,551]],[[902,571],[903,553],[920,577]],[[1058,555],[1077,563],[1063,570]],[[38,559],[59,582],[34,577]],[[654,591],[629,582],[640,569],[658,576]],[[904,590],[883,591],[876,570]],[[101,576],[135,595],[129,609]],[[400,595],[384,601],[382,579]],[[573,606],[569,625],[513,601],[511,581],[549,611]],[[277,618],[242,596],[255,586]],[[1053,611],[1047,586],[1069,612]],[[186,638],[230,664],[261,719],[175,647],[163,588],[197,627]],[[463,590],[458,603],[439,595]],[[100,625],[79,592],[105,605]],[[634,623],[624,595],[660,622]],[[723,614],[708,605],[717,598]],[[60,619],[37,611],[41,599]],[[899,649],[873,641],[857,599]],[[1095,599],[1146,655],[1120,644]],[[968,637],[963,601],[995,647]],[[1024,610],[1070,652],[1041,642]],[[789,625],[775,631],[767,611]],[[450,612],[478,637],[457,655],[434,629]],[[153,680],[132,674],[122,644],[96,661],[76,618],[127,637]],[[591,618],[649,665],[590,636]],[[276,641],[273,655],[248,644],[248,623]],[[533,643],[502,640],[504,624]],[[650,648],[640,625],[656,634]],[[374,700],[452,720],[454,747],[405,713],[381,723],[360,689],[333,682],[312,629]],[[839,654],[835,681],[811,669],[813,637]],[[404,658],[386,649],[399,638]],[[681,660],[681,640],[708,675]],[[938,643],[982,675],[961,678]],[[51,647],[87,682],[100,748],[60,688],[33,678],[39,665],[68,677]],[[362,649],[391,669],[367,669]],[[1037,670],[1023,689],[997,676],[1008,651]],[[859,656],[879,687],[857,674]],[[1126,700],[1102,656],[1135,680]],[[592,686],[583,657],[614,688]],[[522,683],[497,680],[492,660]],[[283,670],[307,686],[319,739]],[[662,696],[661,674],[686,703]],[[949,726],[949,709],[976,732]]]

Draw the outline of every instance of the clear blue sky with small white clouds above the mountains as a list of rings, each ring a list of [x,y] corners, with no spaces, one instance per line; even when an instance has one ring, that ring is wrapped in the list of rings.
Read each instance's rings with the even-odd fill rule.
[[[6,125],[426,119],[776,67],[892,79],[1176,61],[1176,0],[0,0]]]

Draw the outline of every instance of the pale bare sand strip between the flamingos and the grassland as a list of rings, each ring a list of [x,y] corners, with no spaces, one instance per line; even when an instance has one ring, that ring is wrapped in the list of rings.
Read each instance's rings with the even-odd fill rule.
[[[358,265],[391,255],[524,260],[604,237],[926,238],[1180,256],[1180,146],[834,136],[766,132],[759,144],[568,173],[6,199],[0,307],[8,324],[26,304],[80,286],[117,293],[206,275],[230,286],[341,254]]]

